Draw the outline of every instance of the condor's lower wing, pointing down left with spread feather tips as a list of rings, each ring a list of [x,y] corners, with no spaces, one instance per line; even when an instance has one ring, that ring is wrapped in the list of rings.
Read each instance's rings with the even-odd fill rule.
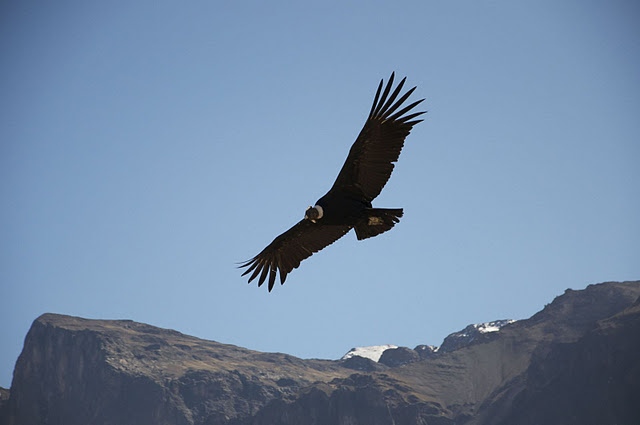
[[[311,220],[301,220],[269,244],[262,252],[240,267],[248,267],[242,276],[251,273],[249,283],[258,275],[258,286],[262,285],[269,276],[269,292],[276,281],[276,271],[280,270],[280,283],[284,281],[293,269],[300,265],[305,258],[331,245],[351,230],[347,225],[328,225],[313,223]]]

